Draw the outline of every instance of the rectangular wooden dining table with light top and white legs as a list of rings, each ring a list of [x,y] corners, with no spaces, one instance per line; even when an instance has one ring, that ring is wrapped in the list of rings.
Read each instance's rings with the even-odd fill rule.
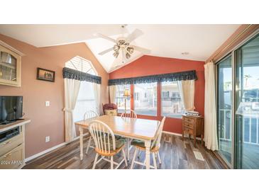
[[[83,159],[83,136],[84,131],[88,129],[89,122],[92,120],[99,120],[106,123],[114,135],[120,135],[122,137],[130,139],[139,139],[145,142],[145,164],[146,169],[150,169],[150,145],[151,141],[155,139],[155,133],[158,130],[159,120],[148,120],[141,118],[121,118],[120,116],[101,115],[97,118],[91,118],[89,120],[82,120],[75,122],[75,125],[79,126],[80,132],[80,159]]]

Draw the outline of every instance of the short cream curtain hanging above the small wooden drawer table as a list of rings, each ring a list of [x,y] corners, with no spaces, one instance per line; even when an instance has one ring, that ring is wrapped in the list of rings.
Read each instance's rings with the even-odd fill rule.
[[[178,81],[178,89],[184,104],[184,110],[194,110],[194,80]]]

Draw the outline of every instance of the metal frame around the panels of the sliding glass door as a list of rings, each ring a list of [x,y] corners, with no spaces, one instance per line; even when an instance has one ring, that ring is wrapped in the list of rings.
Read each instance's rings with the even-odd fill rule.
[[[236,45],[235,47],[233,47],[226,55],[222,56],[221,58],[219,58],[218,60],[216,60],[216,62],[214,62],[214,66],[215,66],[215,91],[216,91],[216,108],[217,108],[217,113],[218,113],[218,99],[217,99],[217,91],[218,91],[218,68],[216,67],[217,64],[219,64],[219,62],[221,62],[222,60],[226,59],[226,57],[231,56],[231,68],[232,68],[232,94],[231,94],[231,111],[232,111],[232,117],[231,117],[231,132],[232,132],[232,152],[231,152],[231,164],[229,164],[228,161],[226,161],[226,159],[224,159],[224,157],[217,152],[217,154],[219,154],[219,156],[221,157],[221,159],[223,159],[223,161],[225,161],[225,163],[228,165],[229,168],[231,169],[237,169],[238,167],[238,145],[236,144],[236,142],[238,141],[238,137],[237,137],[237,132],[236,132],[236,92],[239,91],[238,89],[238,84],[236,83],[236,68],[237,68],[237,64],[236,64],[236,50],[238,50],[238,48],[242,47],[243,45],[245,45],[247,42],[249,42],[250,40],[253,40],[253,38],[255,38],[255,36],[259,35],[259,29],[255,30],[255,32],[251,33],[247,38],[245,38],[243,41],[241,41],[240,43],[238,43],[238,45]],[[217,123],[218,123],[218,118],[216,118]],[[218,128],[217,128],[218,130]],[[218,137],[219,138],[219,137]],[[218,139],[219,141],[219,139]]]

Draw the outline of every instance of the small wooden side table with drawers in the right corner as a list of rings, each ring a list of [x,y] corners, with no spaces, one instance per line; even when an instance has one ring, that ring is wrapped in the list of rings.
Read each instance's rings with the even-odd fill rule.
[[[204,118],[182,115],[182,139],[184,139],[184,133],[194,137],[194,147],[196,147],[196,137],[201,137],[203,142]]]

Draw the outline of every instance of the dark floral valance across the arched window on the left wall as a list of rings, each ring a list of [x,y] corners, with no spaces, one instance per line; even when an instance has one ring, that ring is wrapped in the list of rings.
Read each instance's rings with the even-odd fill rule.
[[[77,79],[80,81],[89,81],[96,84],[101,84],[101,77],[100,76],[94,76],[92,74],[87,74],[84,72],[79,72],[75,69],[70,69],[67,67],[63,68],[63,78],[68,79]]]

